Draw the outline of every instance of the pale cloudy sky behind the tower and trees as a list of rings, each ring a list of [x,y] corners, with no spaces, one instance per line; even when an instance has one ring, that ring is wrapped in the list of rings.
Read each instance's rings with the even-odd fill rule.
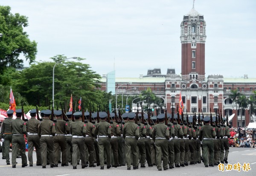
[[[99,75],[115,69],[116,78],[138,78],[153,68],[180,74],[180,23],[193,0],[1,0],[0,5],[28,17],[24,31],[38,43],[36,61],[76,56]],[[256,78],[255,7],[256,0],[195,0],[207,25],[206,77]]]

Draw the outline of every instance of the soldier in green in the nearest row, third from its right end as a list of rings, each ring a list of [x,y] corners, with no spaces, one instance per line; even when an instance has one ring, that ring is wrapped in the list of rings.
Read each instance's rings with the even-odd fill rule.
[[[137,155],[139,148],[137,146],[137,140],[140,136],[140,127],[134,123],[134,113],[128,113],[129,121],[125,122],[123,129],[123,138],[125,138],[125,153],[126,153],[126,165],[127,170],[131,170],[131,153],[133,169],[138,169]]]

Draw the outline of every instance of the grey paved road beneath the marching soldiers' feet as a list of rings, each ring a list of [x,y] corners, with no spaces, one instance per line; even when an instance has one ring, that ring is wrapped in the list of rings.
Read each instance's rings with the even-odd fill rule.
[[[11,154],[11,153],[10,153]],[[0,154],[0,158],[2,158],[2,153]],[[0,173],[2,176],[81,176],[81,175],[104,175],[110,176],[113,174],[125,175],[125,176],[143,176],[143,175],[152,175],[157,174],[157,176],[166,176],[167,174],[175,174],[176,176],[188,176],[191,174],[200,173],[204,176],[215,176],[221,174],[221,176],[231,176],[237,175],[239,176],[255,176],[256,175],[256,149],[254,148],[235,148],[230,147],[229,153],[229,164],[237,164],[238,162],[243,165],[244,163],[250,163],[250,168],[248,172],[242,170],[238,172],[236,170],[221,172],[218,170],[218,166],[215,167],[204,167],[204,164],[195,164],[189,165],[186,167],[174,168],[169,170],[158,171],[157,167],[146,167],[140,168],[138,170],[127,170],[127,167],[119,167],[107,169],[105,166],[104,170],[100,170],[100,167],[86,167],[81,169],[81,165],[78,165],[77,170],[73,170],[72,166],[50,168],[47,165],[46,169],[42,169],[41,166],[34,167],[25,167],[21,168],[21,159],[17,159],[18,164],[17,168],[12,168],[12,165],[6,165],[6,160],[0,159]],[[34,152],[34,162],[35,162],[35,152]],[[35,164],[34,164],[35,165]],[[225,164],[227,166],[227,164]]]

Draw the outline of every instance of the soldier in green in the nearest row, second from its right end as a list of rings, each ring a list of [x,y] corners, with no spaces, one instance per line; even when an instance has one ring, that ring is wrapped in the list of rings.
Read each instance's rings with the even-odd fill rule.
[[[163,170],[169,169],[168,167],[168,140],[170,139],[169,127],[167,127],[164,122],[164,114],[157,115],[159,124],[154,126],[152,132],[152,138],[155,141],[156,146],[156,164],[157,169],[162,170],[161,159],[163,155]]]

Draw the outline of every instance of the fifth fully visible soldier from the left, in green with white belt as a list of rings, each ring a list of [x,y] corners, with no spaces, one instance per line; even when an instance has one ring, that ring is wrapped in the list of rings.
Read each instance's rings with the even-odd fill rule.
[[[54,141],[54,167],[58,167],[58,152],[59,148],[61,148],[61,166],[68,166],[67,164],[67,142],[65,135],[70,133],[70,127],[68,126],[67,122],[62,118],[61,110],[55,111],[57,122],[55,124],[56,127],[56,134],[53,137]]]

